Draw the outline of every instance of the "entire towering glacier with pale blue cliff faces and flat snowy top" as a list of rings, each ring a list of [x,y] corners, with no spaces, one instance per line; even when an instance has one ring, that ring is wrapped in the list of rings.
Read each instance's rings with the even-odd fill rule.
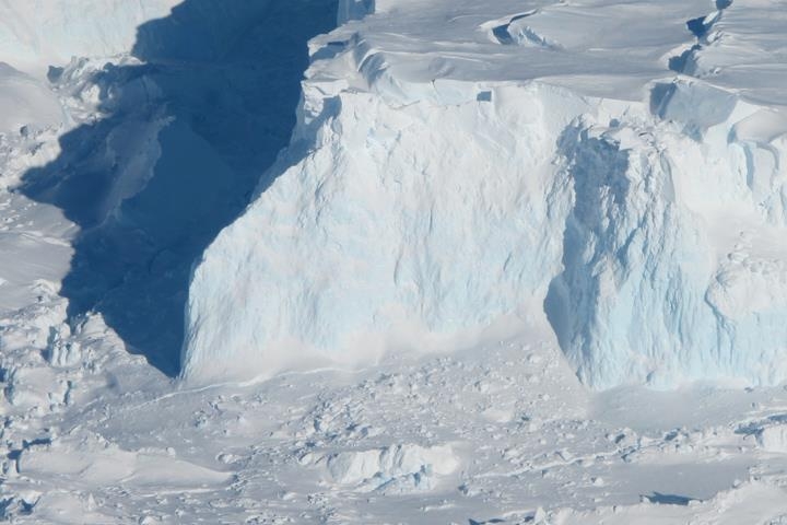
[[[529,3],[342,2],[340,21],[375,14],[313,40],[274,183],[193,269],[187,380],[547,320],[597,388],[787,377],[787,119],[767,82],[740,95],[713,68],[668,70],[681,48],[705,63],[755,8],[712,13],[718,34],[691,47],[682,2],[643,8],[670,13],[647,27],[609,2]],[[408,8],[455,26],[418,33]],[[610,28],[604,55],[577,36],[589,9],[648,37],[619,59]]]

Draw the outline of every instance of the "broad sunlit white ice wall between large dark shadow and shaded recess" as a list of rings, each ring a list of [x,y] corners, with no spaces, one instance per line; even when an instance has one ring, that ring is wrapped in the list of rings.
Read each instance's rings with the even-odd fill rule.
[[[450,346],[527,303],[559,269],[543,174],[582,106],[539,91],[399,109],[342,93],[322,105],[315,149],[195,269],[184,374]]]

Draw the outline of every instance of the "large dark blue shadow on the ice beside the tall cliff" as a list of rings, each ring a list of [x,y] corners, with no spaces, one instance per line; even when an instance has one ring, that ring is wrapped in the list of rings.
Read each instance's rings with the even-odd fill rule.
[[[81,228],[61,290],[71,319],[99,312],[130,351],[178,373],[191,264],[287,144],[306,43],[336,13],[337,0],[186,0],[138,28],[143,65],[93,74],[105,116],[21,188]]]

